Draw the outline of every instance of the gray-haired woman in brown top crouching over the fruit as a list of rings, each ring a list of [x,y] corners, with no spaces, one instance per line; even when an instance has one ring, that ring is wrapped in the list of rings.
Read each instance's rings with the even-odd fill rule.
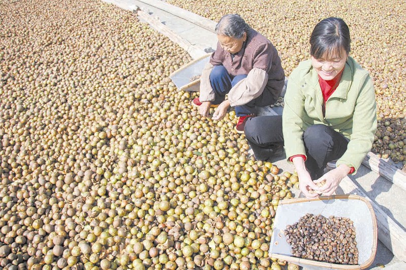
[[[200,95],[193,104],[205,117],[209,108],[216,106],[214,120],[222,119],[228,107],[234,106],[240,117],[235,129],[244,133],[245,122],[257,114],[257,106],[276,102],[285,72],[272,43],[240,15],[223,16],[215,30],[217,49],[201,73]]]

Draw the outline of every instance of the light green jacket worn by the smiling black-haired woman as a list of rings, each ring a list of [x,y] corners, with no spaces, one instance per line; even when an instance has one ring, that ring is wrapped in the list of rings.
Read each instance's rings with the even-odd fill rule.
[[[348,57],[340,84],[328,98],[325,117],[323,95],[311,60],[301,62],[289,77],[283,109],[283,137],[286,157],[306,156],[303,132],[312,125],[324,124],[350,141],[337,161],[355,172],[374,142],[377,128],[375,91],[369,73]]]

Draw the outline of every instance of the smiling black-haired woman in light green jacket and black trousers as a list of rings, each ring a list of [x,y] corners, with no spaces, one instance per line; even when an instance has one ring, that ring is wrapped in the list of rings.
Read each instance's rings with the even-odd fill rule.
[[[270,145],[284,140],[286,157],[293,162],[306,197],[332,195],[347,174],[356,172],[374,141],[374,86],[368,72],[349,57],[350,42],[342,19],[320,21],[310,37],[311,59],[301,62],[289,77],[283,136],[281,117],[258,117],[245,126],[257,159],[270,158]],[[334,160],[336,168],[324,173]],[[323,180],[322,187],[315,184]]]

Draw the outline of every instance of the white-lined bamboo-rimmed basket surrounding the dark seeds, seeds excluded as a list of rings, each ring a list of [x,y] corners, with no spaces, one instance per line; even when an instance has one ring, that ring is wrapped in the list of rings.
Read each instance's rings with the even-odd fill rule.
[[[347,217],[354,222],[358,248],[358,264],[337,264],[294,257],[286,242],[284,230],[307,213],[325,217]],[[274,220],[269,257],[300,265],[307,270],[365,269],[374,261],[378,244],[378,229],[374,209],[363,197],[339,195],[315,199],[281,200]]]

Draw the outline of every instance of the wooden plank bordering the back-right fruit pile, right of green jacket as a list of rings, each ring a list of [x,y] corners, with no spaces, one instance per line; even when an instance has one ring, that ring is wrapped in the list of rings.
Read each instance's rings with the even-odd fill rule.
[[[393,167],[390,163],[379,158],[373,152],[369,152],[366,155],[362,164],[372,171],[379,173],[401,189],[406,190],[406,172]]]

